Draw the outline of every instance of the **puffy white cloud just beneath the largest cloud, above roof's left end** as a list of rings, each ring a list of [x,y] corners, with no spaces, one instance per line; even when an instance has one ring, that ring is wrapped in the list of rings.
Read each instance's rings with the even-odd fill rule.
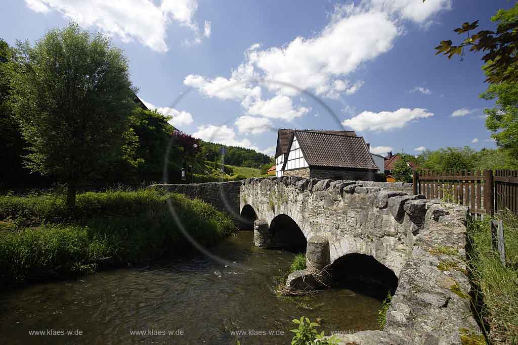
[[[306,107],[294,107],[292,99],[287,96],[275,96],[266,101],[257,99],[248,109],[250,115],[261,115],[285,121],[292,121],[294,118],[303,116],[309,111],[310,109]]]

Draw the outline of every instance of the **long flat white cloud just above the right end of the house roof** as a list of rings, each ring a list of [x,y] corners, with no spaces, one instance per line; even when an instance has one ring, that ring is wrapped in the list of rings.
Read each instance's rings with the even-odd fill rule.
[[[382,111],[379,113],[364,111],[353,118],[344,120],[342,125],[357,131],[382,131],[402,128],[414,119],[427,118],[430,116],[434,116],[434,114],[422,108],[400,108],[393,112]]]

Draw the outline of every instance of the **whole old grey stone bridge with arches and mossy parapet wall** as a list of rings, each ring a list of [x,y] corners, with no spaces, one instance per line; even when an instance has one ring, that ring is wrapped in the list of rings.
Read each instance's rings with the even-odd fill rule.
[[[411,195],[403,183],[274,177],[163,186],[226,211],[241,229],[254,226],[256,245],[307,246],[315,267],[354,271],[347,259],[359,257],[381,266],[356,273],[395,284],[386,326],[341,335],[343,343],[460,345],[480,334],[468,295],[465,206]]]

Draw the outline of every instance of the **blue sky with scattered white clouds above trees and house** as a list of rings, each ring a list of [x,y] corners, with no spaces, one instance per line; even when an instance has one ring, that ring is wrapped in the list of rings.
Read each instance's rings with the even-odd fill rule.
[[[481,55],[435,56],[507,0],[7,0],[1,37],[70,20],[124,49],[138,96],[204,140],[275,151],[277,128],[347,129],[375,153],[494,147]]]

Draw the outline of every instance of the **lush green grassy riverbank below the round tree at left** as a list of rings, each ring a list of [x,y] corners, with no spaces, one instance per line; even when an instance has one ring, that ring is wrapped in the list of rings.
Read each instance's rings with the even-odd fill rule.
[[[232,219],[209,204],[160,190],[83,193],[73,211],[55,194],[0,197],[2,286],[189,250],[168,202],[204,246],[235,231]]]

